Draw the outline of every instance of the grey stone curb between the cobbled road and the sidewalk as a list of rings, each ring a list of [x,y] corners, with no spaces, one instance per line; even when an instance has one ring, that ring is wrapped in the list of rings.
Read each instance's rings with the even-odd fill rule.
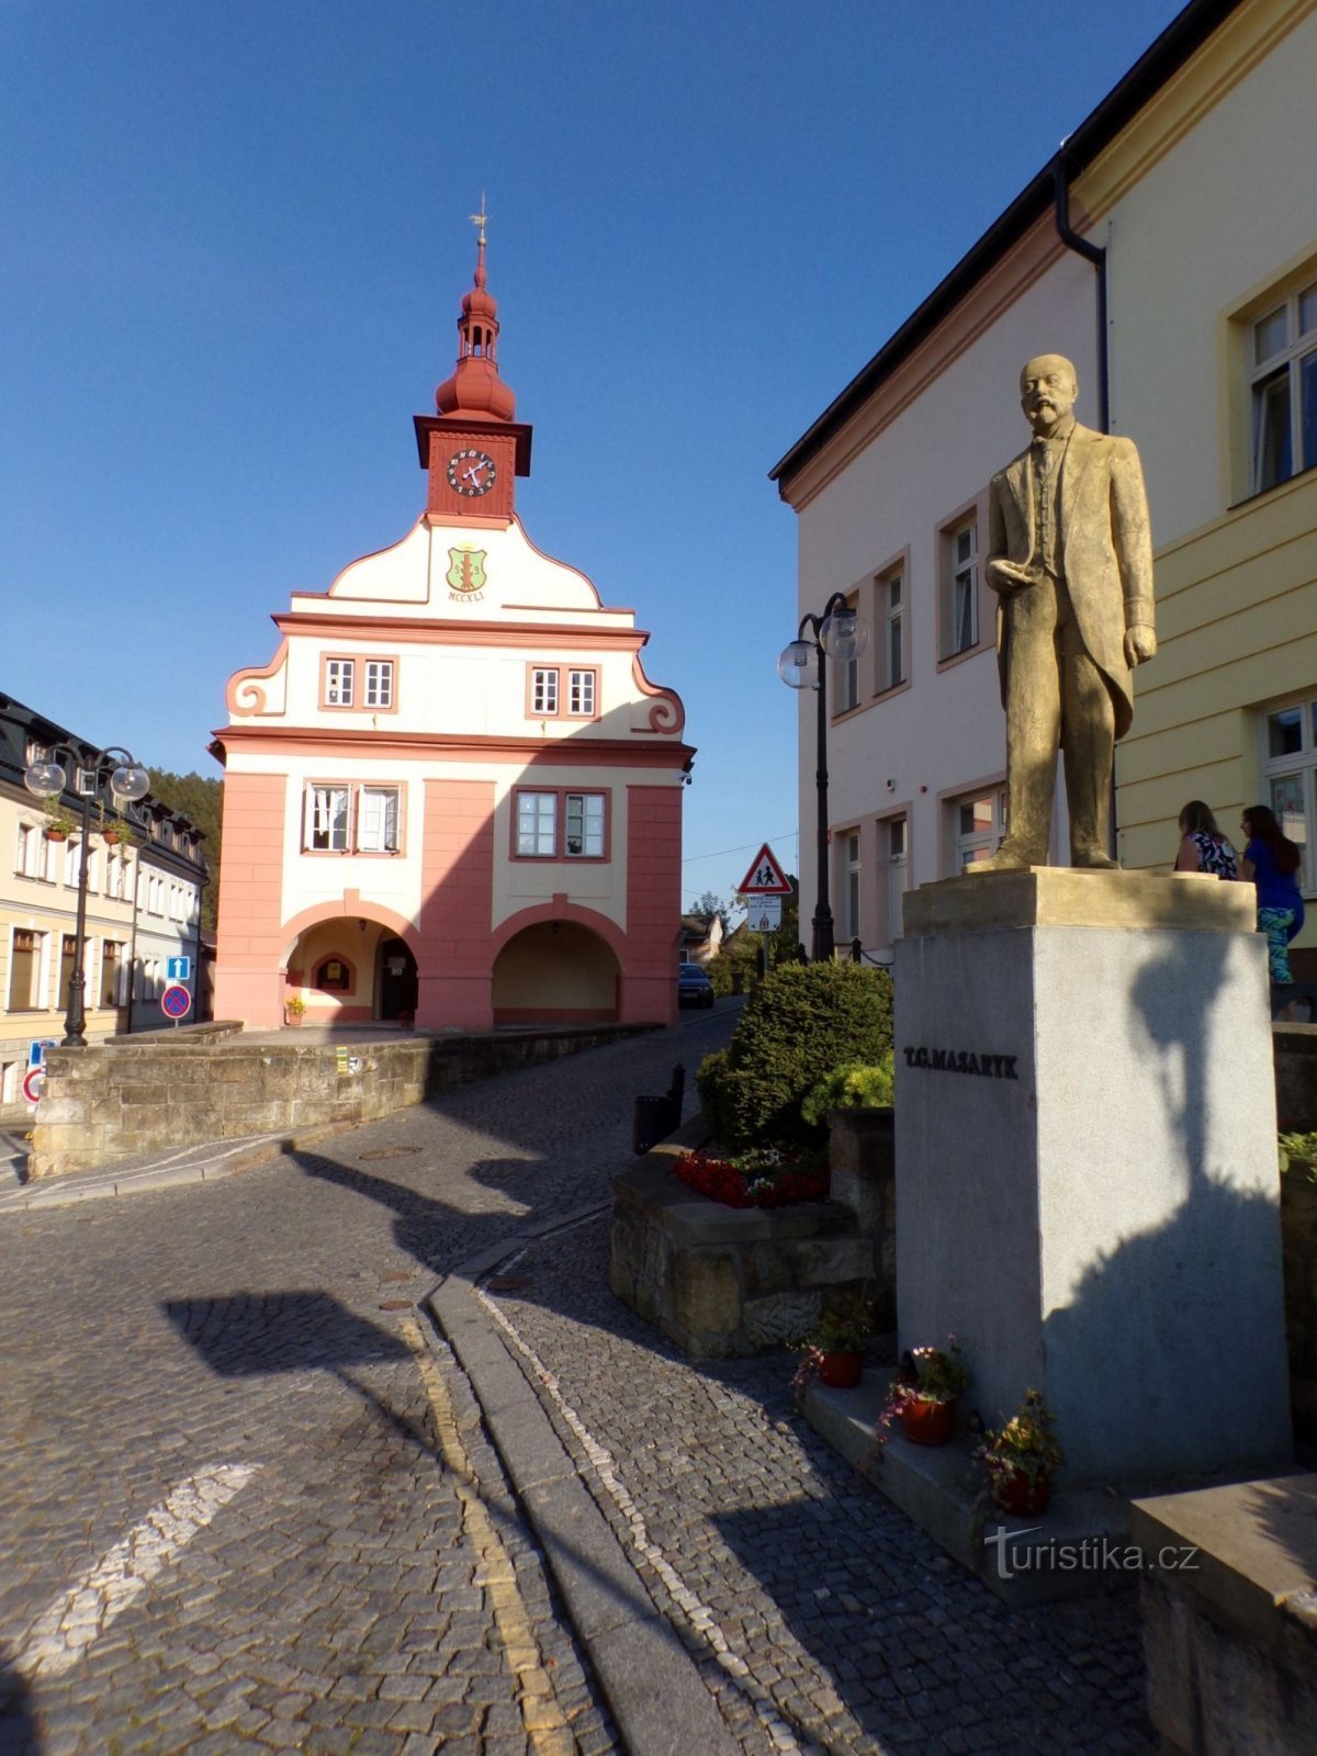
[[[694,1147],[706,1136],[702,1119],[695,1117],[669,1134],[667,1152],[658,1147],[646,1157],[671,1157],[673,1147]],[[739,1756],[739,1744],[694,1659],[655,1608],[522,1366],[476,1299],[481,1275],[537,1238],[604,1213],[609,1205],[592,1203],[522,1227],[462,1263],[427,1303],[471,1380],[493,1449],[544,1551],[627,1756],[673,1751]]]

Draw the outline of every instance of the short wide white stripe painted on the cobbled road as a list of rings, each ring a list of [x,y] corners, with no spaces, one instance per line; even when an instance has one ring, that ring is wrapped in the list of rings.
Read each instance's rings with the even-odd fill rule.
[[[91,1642],[139,1598],[179,1551],[256,1473],[256,1463],[218,1463],[190,1475],[135,1524],[123,1542],[46,1608],[28,1630],[14,1668],[26,1677],[60,1677]]]

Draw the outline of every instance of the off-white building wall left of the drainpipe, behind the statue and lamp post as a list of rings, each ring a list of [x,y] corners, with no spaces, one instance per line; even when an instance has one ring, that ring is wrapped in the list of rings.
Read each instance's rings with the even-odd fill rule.
[[[843,936],[843,836],[860,836],[860,939],[890,946],[880,824],[904,815],[908,860],[901,882],[915,887],[955,871],[952,802],[996,790],[1006,771],[1006,727],[996,657],[996,599],[978,572],[978,643],[943,658],[946,646],[943,530],[976,511],[980,557],[987,537],[987,486],[1024,450],[1020,367],[1038,353],[1066,353],[1080,376],[1080,416],[1096,420],[1094,276],[1062,253],[1050,221],[985,281],[920,356],[832,446],[818,483],[792,493],[799,511],[797,615],[820,613],[832,592],[859,594],[871,630],[860,658],[860,702],[836,713],[829,667],[829,824],[832,911]],[[906,678],[883,692],[885,622],[874,581],[904,569]],[[817,697],[799,701],[799,810],[817,811]],[[1064,802],[1054,846],[1064,846]],[[815,908],[815,836],[801,836],[801,920]]]

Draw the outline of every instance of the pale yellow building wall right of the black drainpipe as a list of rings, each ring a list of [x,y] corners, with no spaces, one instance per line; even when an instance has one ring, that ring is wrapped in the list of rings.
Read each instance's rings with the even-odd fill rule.
[[[1317,478],[1252,492],[1249,395],[1252,321],[1317,283],[1313,79],[1313,7],[1247,5],[1082,184],[1110,207],[1112,406],[1157,565],[1159,653],[1117,764],[1127,866],[1169,867],[1194,797],[1238,839],[1270,802],[1268,709],[1317,697]],[[1305,880],[1317,896],[1317,860]]]

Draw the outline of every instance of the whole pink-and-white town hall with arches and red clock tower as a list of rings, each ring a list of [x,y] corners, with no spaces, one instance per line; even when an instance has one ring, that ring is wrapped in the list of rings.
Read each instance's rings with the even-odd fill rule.
[[[460,356],[416,416],[425,513],[276,615],[225,764],[216,1017],[671,1022],[694,750],[630,609],[515,513],[530,427],[499,376],[481,232]]]

